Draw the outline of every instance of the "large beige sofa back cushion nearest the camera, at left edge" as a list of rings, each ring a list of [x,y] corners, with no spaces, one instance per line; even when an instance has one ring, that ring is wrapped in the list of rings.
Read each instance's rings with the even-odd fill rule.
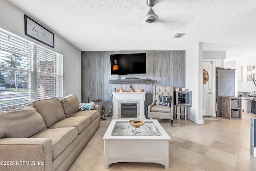
[[[44,129],[42,116],[31,105],[0,111],[0,138],[28,138]]]

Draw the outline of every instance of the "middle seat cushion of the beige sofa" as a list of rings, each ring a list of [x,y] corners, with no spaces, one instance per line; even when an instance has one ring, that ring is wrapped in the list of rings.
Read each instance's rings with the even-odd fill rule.
[[[67,117],[61,119],[60,121],[52,124],[48,129],[62,128],[62,127],[76,127],[78,134],[84,130],[90,124],[90,117],[80,116],[80,117]]]

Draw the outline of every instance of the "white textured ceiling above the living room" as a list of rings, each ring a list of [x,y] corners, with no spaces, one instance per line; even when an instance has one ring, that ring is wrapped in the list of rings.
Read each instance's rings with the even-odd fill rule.
[[[226,50],[226,61],[256,57],[256,0],[8,0],[81,51]],[[176,33],[186,33],[173,38]]]

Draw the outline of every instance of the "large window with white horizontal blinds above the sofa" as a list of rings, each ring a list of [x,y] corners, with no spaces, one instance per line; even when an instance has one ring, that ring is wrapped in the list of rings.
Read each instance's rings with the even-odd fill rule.
[[[0,109],[63,96],[63,55],[0,28]]]

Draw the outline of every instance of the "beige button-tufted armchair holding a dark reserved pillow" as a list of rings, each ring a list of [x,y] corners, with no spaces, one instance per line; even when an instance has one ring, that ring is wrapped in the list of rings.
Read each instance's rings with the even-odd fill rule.
[[[169,105],[169,106],[168,106]],[[148,117],[171,119],[173,122],[173,86],[154,86],[153,103],[148,106]]]

